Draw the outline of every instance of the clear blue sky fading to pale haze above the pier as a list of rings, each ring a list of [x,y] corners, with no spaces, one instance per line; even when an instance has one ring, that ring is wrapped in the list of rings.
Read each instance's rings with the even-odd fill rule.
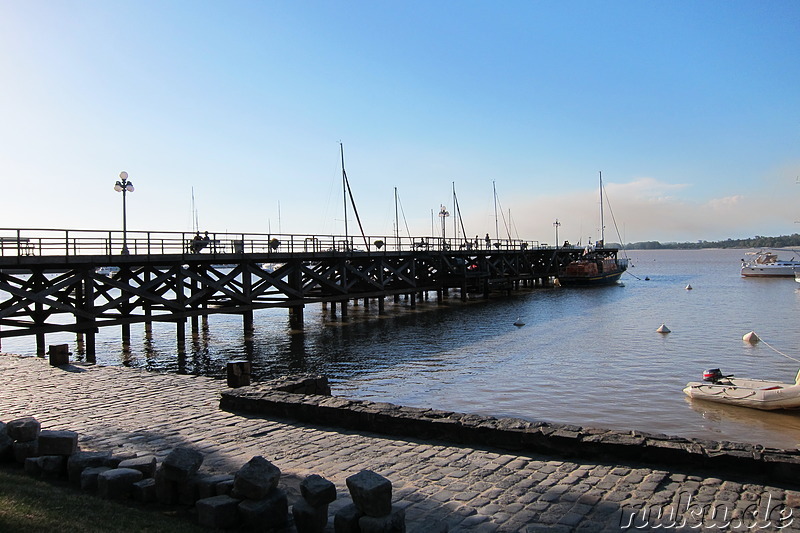
[[[445,206],[452,237],[455,189],[468,236],[594,240],[601,172],[608,241],[796,233],[798,28],[795,0],[0,0],[0,227],[118,230],[126,171],[131,231],[341,235],[343,147],[373,236]]]

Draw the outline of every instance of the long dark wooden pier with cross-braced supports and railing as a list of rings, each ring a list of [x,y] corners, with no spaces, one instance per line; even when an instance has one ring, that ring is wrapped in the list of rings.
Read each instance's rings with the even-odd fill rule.
[[[488,298],[492,291],[548,286],[579,247],[548,247],[515,239],[490,241],[439,237],[396,238],[127,232],[0,228],[0,342],[35,335],[44,355],[48,333],[71,331],[85,338],[95,357],[100,327],[119,326],[130,340],[131,324],[174,322],[179,344],[187,321],[239,314],[246,334],[253,311],[289,310],[303,327],[303,309],[327,303],[347,316],[348,303],[451,289]],[[616,249],[607,249],[616,257]],[[0,345],[1,347],[1,345]]]

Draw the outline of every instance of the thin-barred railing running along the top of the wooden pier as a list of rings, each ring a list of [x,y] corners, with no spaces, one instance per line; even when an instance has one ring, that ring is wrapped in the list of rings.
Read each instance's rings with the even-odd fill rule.
[[[118,256],[194,254],[272,254],[331,252],[512,251],[547,249],[538,241],[465,239],[453,237],[396,237],[296,235],[274,233],[174,232],[0,228],[0,257]]]

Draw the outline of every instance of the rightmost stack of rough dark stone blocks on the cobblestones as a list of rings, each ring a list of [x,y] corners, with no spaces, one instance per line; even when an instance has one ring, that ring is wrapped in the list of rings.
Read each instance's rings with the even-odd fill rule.
[[[404,533],[405,511],[392,506],[392,483],[371,470],[362,470],[346,480],[353,505],[334,516],[337,533]]]

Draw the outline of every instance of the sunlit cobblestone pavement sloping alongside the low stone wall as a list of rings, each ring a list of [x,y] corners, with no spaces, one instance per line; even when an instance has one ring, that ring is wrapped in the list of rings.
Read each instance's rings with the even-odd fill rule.
[[[800,531],[800,492],[764,480],[514,455],[228,413],[218,407],[224,387],[205,377],[55,368],[4,355],[0,420],[35,416],[44,429],[77,431],[83,450],[163,458],[176,446],[193,446],[206,454],[207,472],[232,473],[262,455],[281,469],[290,505],[306,475],[333,481],[339,498],[331,517],[351,501],[345,478],[370,469],[392,482],[411,532]]]

